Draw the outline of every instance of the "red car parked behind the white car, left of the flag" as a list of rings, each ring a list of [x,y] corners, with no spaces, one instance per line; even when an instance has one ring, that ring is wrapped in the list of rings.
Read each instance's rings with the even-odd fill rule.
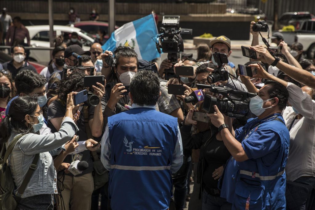
[[[108,23],[102,22],[102,21],[81,21],[81,22],[74,22],[71,24],[68,24],[67,26],[73,25],[76,28],[80,28],[83,31],[88,32],[91,34],[94,38],[96,37],[97,31],[105,31],[105,39],[108,39]],[[119,28],[119,26],[115,26],[115,30]]]

